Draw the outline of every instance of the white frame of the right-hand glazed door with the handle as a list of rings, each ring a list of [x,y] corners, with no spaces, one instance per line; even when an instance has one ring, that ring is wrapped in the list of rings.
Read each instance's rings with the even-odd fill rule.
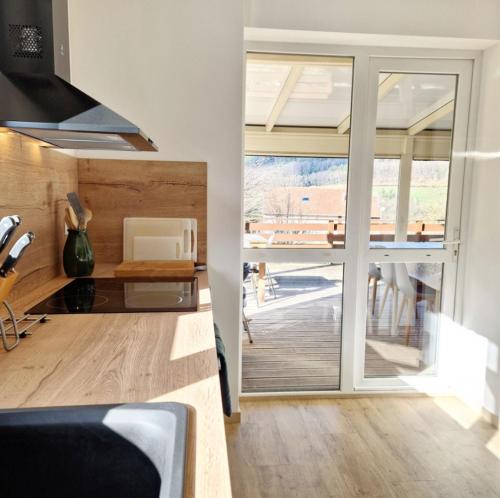
[[[467,132],[471,101],[472,61],[372,57],[369,62],[368,106],[365,112],[364,175],[360,209],[360,236],[358,256],[361,268],[357,279],[357,313],[355,329],[355,390],[386,390],[408,388],[418,390],[442,391],[446,386],[439,379],[439,346],[436,358],[436,376],[400,376],[391,378],[364,378],[365,335],[368,284],[365,275],[370,262],[440,262],[444,263],[442,305],[440,315],[455,317],[455,291],[458,268],[458,245],[451,242],[459,240],[463,180],[467,152]],[[452,157],[448,183],[448,206],[446,216],[445,244],[440,249],[370,249],[370,208],[372,198],[373,163],[375,157],[375,130],[378,108],[378,84],[380,72],[452,74],[458,76]]]

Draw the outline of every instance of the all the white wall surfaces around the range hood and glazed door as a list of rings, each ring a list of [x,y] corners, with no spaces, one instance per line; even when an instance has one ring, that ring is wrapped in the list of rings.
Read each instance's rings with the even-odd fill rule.
[[[86,156],[209,164],[210,279],[236,398],[243,0],[69,2],[73,82],[142,126],[160,146],[156,154]],[[257,28],[500,39],[496,0],[249,0],[246,15],[247,26]],[[443,340],[464,360],[446,369],[461,394],[500,414],[498,67],[500,46],[485,53],[464,323],[448,324]],[[467,363],[472,350],[476,361]]]

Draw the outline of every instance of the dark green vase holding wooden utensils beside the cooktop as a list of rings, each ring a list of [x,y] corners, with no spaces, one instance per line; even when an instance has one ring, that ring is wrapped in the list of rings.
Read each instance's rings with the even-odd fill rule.
[[[94,271],[94,250],[87,230],[68,230],[63,266],[68,277],[88,277]]]

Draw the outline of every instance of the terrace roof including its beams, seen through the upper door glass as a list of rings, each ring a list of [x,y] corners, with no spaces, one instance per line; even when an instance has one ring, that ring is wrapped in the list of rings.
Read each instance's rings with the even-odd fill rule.
[[[325,58],[322,65],[317,57],[311,64],[305,58],[283,57],[248,60],[246,124],[264,125],[268,131],[274,126],[302,126],[348,132],[352,59]],[[381,73],[377,128],[411,134],[451,130],[455,86],[455,75]]]

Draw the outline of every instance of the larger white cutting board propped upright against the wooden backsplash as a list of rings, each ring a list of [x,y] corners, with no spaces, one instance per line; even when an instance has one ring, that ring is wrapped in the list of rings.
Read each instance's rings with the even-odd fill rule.
[[[193,218],[124,218],[123,260],[197,259]]]

